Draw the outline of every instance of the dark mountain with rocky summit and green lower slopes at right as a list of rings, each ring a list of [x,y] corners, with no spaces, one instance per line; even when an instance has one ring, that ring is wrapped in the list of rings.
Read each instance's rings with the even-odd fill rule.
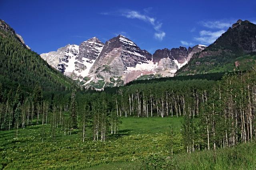
[[[176,75],[247,70],[256,63],[256,25],[238,20],[214,43],[192,55]]]

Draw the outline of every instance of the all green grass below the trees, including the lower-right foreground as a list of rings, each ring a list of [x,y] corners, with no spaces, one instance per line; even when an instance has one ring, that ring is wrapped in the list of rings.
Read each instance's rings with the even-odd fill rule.
[[[57,129],[56,139],[50,127],[34,125],[16,131],[0,131],[0,169],[256,169],[256,144],[240,144],[219,149],[216,153],[184,152],[180,135],[182,118],[122,118],[120,134],[106,142],[81,140],[81,132],[63,136]],[[176,132],[170,138],[171,127]],[[170,141],[174,142],[171,154]]]

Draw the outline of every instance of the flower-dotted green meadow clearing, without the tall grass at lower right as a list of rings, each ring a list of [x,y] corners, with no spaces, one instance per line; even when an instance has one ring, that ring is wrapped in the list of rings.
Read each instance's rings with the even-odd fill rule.
[[[16,130],[0,131],[0,169],[82,169],[96,166],[106,169],[138,168],[140,160],[152,154],[168,156],[170,126],[179,131],[180,118],[122,118],[119,134],[109,136],[106,142],[82,142],[81,132],[63,136],[61,128],[56,139],[51,138],[50,127],[29,126]],[[178,136],[178,143],[181,137]],[[182,144],[177,148],[182,150]]]

